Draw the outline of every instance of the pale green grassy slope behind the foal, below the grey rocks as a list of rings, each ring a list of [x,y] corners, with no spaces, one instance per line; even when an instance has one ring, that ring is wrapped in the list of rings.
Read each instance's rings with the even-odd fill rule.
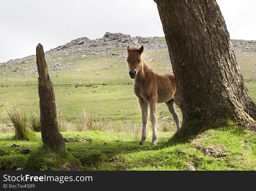
[[[256,77],[253,72],[256,70],[256,54],[236,52],[236,57],[243,76]],[[59,58],[51,58],[49,62]],[[172,72],[167,49],[161,52],[145,51],[143,58],[159,74]],[[91,56],[85,60],[78,55],[72,59],[72,69],[57,73],[53,73],[54,70],[49,65],[59,115],[62,114],[70,124],[75,125],[84,107],[90,115],[104,115],[114,123],[140,123],[140,107],[133,93],[133,81],[128,75],[125,58]],[[24,67],[23,65],[19,67]],[[110,65],[113,67],[109,67]],[[109,69],[105,69],[107,67]],[[7,115],[3,112],[7,102],[13,102],[27,112],[39,112],[38,74],[24,72],[23,76],[16,76],[15,73],[13,72],[13,76],[0,76],[0,123],[8,123]],[[93,86],[88,87],[90,84]],[[255,98],[254,83],[247,85],[251,96]],[[181,113],[178,108],[177,110]],[[158,119],[170,116],[165,104],[158,104],[157,111]]]

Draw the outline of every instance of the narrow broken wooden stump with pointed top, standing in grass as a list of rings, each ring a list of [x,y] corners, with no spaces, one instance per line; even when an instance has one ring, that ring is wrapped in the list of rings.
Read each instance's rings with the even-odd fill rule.
[[[59,132],[54,89],[48,74],[43,46],[36,47],[36,64],[39,74],[38,94],[40,98],[40,122],[42,140],[51,148],[65,148],[65,141]]]

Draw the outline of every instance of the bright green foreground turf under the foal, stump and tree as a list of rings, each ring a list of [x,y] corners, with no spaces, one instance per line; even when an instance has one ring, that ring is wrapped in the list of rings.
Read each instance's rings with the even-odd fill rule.
[[[208,130],[194,136],[197,130],[182,138],[182,128],[159,132],[157,146],[150,145],[150,134],[144,145],[140,135],[101,131],[62,132],[65,139],[88,142],[66,142],[67,151],[44,150],[40,133],[33,141],[11,141],[12,134],[0,135],[0,166],[23,170],[256,170],[256,135],[236,124]],[[174,136],[173,136],[174,135]],[[19,147],[32,152],[23,155]]]

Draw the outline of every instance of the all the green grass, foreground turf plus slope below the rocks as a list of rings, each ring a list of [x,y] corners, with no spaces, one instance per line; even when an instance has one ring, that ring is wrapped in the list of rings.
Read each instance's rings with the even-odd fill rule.
[[[150,39],[149,39],[150,40]],[[163,41],[159,38],[159,41]],[[121,51],[123,48],[115,48]],[[34,58],[31,56],[29,58]],[[145,51],[146,63],[159,74],[172,68],[168,50]],[[243,77],[256,77],[255,53],[236,52]],[[61,132],[67,151],[42,149],[41,134],[33,132],[31,141],[13,140],[4,109],[14,103],[23,112],[39,113],[38,74],[0,76],[0,167],[2,170],[256,170],[256,135],[241,130],[230,122],[218,130],[198,134],[198,124],[190,124],[190,133],[181,128],[175,133],[165,104],[157,105],[159,141],[150,145],[152,131],[147,129],[145,145],[138,145],[141,132],[141,111],[133,93],[126,58],[73,55],[72,60],[56,56],[46,61],[72,62],[69,69],[55,71],[49,65],[54,84],[58,115],[63,115],[69,130]],[[31,63],[35,64],[35,63]],[[25,64],[17,65],[25,67]],[[108,68],[108,69],[106,69]],[[3,72],[4,68],[0,69]],[[76,87],[77,86],[77,87]],[[256,83],[246,83],[256,100]],[[108,124],[103,131],[76,130],[85,111],[103,118]],[[181,111],[177,108],[179,115]],[[167,128],[168,127],[168,128]],[[3,133],[7,132],[7,133]],[[11,147],[13,145],[13,147]],[[15,146],[16,145],[16,146]],[[17,146],[19,145],[19,146]]]

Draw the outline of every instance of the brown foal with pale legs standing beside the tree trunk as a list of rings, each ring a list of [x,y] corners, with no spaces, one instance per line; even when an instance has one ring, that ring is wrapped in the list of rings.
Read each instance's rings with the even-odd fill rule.
[[[127,47],[127,62],[129,75],[134,80],[134,94],[138,97],[141,107],[142,135],[139,144],[144,144],[147,132],[148,106],[150,109],[150,122],[152,124],[152,141],[156,145],[157,135],[157,103],[166,103],[173,116],[177,130],[180,128],[179,113],[175,110],[174,103],[179,107],[179,93],[173,74],[159,75],[150,69],[141,58],[143,45]]]

